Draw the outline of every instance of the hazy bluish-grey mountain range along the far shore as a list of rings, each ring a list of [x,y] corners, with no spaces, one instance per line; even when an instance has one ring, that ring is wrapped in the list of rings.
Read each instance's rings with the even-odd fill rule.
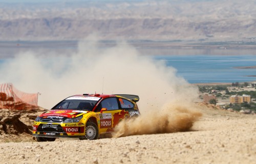
[[[0,40],[256,40],[254,1],[0,5]]]

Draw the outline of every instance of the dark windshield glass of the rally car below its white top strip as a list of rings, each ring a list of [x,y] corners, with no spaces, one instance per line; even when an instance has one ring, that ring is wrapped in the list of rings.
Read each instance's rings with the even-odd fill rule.
[[[84,110],[92,111],[94,105],[97,103],[95,100],[63,100],[59,104],[53,107],[53,110],[63,110],[63,109],[72,109],[72,110]]]

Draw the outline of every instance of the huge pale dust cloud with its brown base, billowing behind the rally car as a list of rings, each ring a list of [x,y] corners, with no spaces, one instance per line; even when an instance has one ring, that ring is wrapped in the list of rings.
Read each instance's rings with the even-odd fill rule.
[[[75,94],[139,95],[141,117],[122,122],[116,129],[123,126],[129,129],[128,134],[119,131],[117,136],[134,134],[137,127],[143,129],[140,134],[183,131],[199,116],[187,107],[198,96],[197,88],[178,77],[164,61],[141,55],[125,42],[101,48],[97,37],[91,37],[80,41],[77,51],[69,55],[28,51],[2,64],[0,76],[0,83],[13,83],[27,93],[41,93],[38,105],[48,109]],[[127,127],[128,123],[134,126]],[[130,131],[132,128],[135,131]]]

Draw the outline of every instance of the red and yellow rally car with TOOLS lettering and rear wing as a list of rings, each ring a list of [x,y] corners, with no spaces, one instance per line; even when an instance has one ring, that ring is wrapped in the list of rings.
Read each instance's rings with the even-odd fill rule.
[[[36,141],[56,138],[95,140],[111,133],[123,119],[139,116],[137,95],[82,94],[70,96],[39,115],[33,125]]]

